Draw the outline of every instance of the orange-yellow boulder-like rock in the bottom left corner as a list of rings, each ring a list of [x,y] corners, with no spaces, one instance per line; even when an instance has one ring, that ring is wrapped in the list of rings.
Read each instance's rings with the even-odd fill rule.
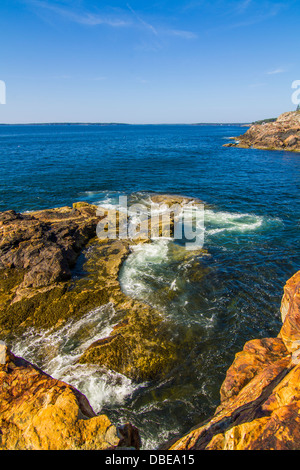
[[[114,426],[74,387],[0,348],[0,450],[139,449],[134,426]]]

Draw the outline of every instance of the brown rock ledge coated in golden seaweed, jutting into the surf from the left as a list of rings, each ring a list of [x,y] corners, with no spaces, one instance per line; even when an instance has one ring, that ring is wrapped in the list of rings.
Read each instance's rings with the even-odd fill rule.
[[[192,202],[170,195],[153,199],[167,207]],[[145,240],[99,239],[97,226],[105,213],[108,220],[116,215],[80,202],[30,214],[0,214],[0,339],[13,346],[29,327],[59,330],[69,319],[110,304],[115,328],[107,338],[94,341],[80,362],[136,381],[160,379],[183,354],[176,343],[178,332],[160,312],[122,292],[122,263],[131,246]],[[157,227],[164,231],[160,221]],[[79,275],[74,276],[74,267]]]

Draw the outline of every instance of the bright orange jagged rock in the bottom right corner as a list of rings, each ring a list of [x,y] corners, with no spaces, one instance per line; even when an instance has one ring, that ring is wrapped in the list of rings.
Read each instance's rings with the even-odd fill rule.
[[[300,449],[300,271],[284,288],[277,338],[246,343],[227,371],[215,415],[172,450]]]

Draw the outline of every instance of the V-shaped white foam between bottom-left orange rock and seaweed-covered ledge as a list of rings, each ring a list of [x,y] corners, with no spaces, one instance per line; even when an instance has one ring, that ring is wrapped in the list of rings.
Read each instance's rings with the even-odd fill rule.
[[[127,377],[97,365],[77,364],[94,342],[110,334],[115,311],[111,304],[94,309],[60,329],[30,329],[16,342],[13,353],[37,364],[52,377],[69,383],[88,398],[95,412],[105,404],[121,404],[136,388]]]

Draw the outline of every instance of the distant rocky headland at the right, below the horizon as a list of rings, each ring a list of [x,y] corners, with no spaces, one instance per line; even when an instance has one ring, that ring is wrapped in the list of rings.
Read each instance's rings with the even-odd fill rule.
[[[254,124],[224,147],[300,152],[300,112],[281,114],[274,122]]]

